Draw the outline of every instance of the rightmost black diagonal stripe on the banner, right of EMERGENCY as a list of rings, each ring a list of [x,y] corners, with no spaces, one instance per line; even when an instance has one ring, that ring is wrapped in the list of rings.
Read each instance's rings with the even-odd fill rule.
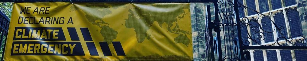
[[[122,49],[122,44],[120,44],[119,41],[113,41],[112,43],[113,43],[117,56],[126,56],[124,50]]]

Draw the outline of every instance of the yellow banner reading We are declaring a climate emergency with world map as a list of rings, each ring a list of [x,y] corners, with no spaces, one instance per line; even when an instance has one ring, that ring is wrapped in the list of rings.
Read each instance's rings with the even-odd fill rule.
[[[192,60],[189,3],[14,3],[8,61]]]

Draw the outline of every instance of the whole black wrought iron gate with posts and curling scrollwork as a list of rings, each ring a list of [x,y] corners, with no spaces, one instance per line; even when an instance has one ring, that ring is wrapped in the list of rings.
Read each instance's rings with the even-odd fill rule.
[[[307,50],[304,35],[285,35],[283,30],[287,30],[286,27],[278,26],[270,15],[244,6],[238,0],[219,0],[213,3],[215,20],[211,20],[212,10],[207,6],[207,61],[250,61],[250,50]],[[246,10],[255,12],[255,16],[247,17],[239,13]],[[268,20],[259,22],[260,19]],[[273,28],[266,30],[264,27]],[[274,42],[261,42],[270,40],[268,36],[274,33],[278,34],[272,39]]]

